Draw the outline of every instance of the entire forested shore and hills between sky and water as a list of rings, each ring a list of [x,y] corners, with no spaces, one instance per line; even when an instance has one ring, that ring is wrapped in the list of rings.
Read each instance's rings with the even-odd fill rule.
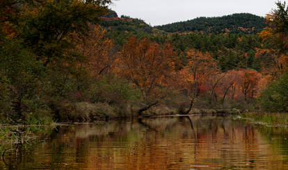
[[[288,112],[285,3],[157,28],[110,3],[0,2],[2,123]]]

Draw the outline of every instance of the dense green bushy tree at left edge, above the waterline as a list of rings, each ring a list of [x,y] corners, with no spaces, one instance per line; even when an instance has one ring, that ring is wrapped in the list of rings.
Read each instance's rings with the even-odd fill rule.
[[[9,101],[6,104],[11,106],[6,106],[6,116],[17,123],[23,121],[24,112],[31,109],[24,101],[38,94],[42,65],[35,60],[33,53],[23,49],[21,41],[5,42],[1,46],[0,59],[0,84],[5,92],[1,98]]]

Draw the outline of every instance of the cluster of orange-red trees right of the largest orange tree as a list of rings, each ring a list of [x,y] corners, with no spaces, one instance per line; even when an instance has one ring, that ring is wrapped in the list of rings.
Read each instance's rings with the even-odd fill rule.
[[[230,101],[249,101],[259,93],[261,74],[253,70],[230,70],[221,72],[209,53],[191,49],[187,52],[189,64],[179,71],[179,87],[190,99],[189,113],[198,99],[207,100],[210,107]]]

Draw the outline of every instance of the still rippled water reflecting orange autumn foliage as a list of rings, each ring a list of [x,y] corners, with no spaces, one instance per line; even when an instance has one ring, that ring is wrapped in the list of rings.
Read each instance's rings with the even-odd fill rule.
[[[216,116],[58,126],[0,169],[288,169],[285,130]]]

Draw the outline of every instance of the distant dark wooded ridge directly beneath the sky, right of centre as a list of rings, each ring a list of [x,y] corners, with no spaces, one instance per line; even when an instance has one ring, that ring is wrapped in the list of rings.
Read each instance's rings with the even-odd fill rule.
[[[266,26],[265,19],[249,13],[223,17],[198,17],[186,22],[155,26],[168,33],[259,33]]]

